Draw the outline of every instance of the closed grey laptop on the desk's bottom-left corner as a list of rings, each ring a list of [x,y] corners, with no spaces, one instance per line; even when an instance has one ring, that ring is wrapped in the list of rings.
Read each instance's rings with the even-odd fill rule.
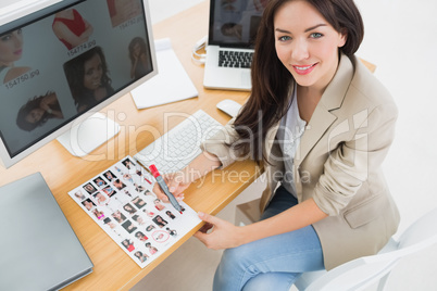
[[[0,290],[59,290],[92,271],[41,174],[0,187]]]

